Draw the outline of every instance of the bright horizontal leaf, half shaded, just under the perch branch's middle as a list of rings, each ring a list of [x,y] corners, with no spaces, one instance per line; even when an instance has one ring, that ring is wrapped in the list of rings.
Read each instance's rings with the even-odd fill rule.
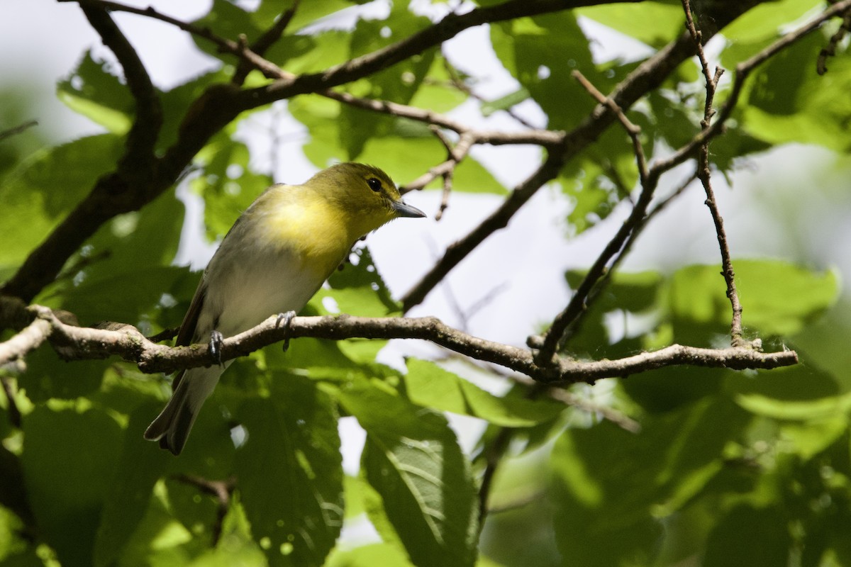
[[[553,419],[564,405],[490,394],[433,362],[408,359],[405,394],[416,405],[479,417],[503,427],[522,428]]]

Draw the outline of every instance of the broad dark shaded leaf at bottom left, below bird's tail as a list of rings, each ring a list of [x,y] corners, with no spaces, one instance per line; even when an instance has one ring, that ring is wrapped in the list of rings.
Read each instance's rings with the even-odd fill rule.
[[[43,541],[67,565],[94,564],[104,489],[115,477],[122,443],[117,422],[85,405],[37,405],[23,427],[20,458],[31,507]]]

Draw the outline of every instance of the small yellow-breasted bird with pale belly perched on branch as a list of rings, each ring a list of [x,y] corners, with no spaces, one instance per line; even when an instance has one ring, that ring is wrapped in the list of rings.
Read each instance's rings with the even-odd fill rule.
[[[271,185],[237,218],[210,259],[175,346],[209,341],[215,358],[224,337],[271,315],[288,324],[357,240],[394,218],[425,216],[402,200],[390,176],[363,163],[337,163],[300,185]],[[229,364],[180,371],[145,439],[180,455]]]

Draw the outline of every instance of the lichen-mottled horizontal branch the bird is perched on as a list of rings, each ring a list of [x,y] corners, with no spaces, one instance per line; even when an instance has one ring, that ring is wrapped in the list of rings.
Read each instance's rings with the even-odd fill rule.
[[[16,307],[17,306],[17,307]],[[19,303],[0,298],[0,319],[18,318]],[[151,343],[134,326],[112,324],[109,328],[71,326],[63,323],[46,307],[26,308],[31,320],[47,323],[35,327],[44,339],[66,360],[106,359],[117,355],[136,363],[143,372],[171,372],[209,366],[212,356],[208,344],[168,347]],[[45,330],[46,329],[46,330]],[[17,336],[16,336],[17,337]],[[407,338],[430,341],[476,360],[492,362],[521,372],[543,383],[594,383],[604,377],[624,377],[661,366],[710,366],[741,370],[776,368],[797,363],[794,351],[760,353],[753,349],[698,349],[672,345],[654,352],[636,354],[620,360],[578,361],[558,358],[553,366],[538,366],[527,349],[473,337],[446,326],[436,317],[369,318],[349,315],[295,317],[288,328],[277,324],[277,315],[260,325],[228,337],[222,343],[221,360],[232,360],[287,338],[316,337],[333,340],[346,338]],[[10,340],[15,340],[13,337]],[[36,341],[28,343],[31,349]],[[29,349],[29,350],[31,350]],[[20,357],[20,351],[13,352]],[[0,359],[0,365],[7,360]]]

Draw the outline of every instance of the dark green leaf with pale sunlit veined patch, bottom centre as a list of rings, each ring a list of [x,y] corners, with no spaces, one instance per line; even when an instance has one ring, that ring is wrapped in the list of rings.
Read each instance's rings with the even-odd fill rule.
[[[472,565],[476,492],[446,419],[376,383],[352,383],[337,396],[367,431],[363,470],[412,563]]]

